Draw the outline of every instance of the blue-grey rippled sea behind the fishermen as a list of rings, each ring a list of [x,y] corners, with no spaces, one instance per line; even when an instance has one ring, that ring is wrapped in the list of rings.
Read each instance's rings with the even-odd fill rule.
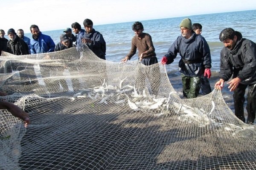
[[[235,11],[214,14],[201,14],[184,17],[173,17],[164,19],[144,20],[144,32],[152,37],[155,52],[158,60],[168,51],[172,42],[180,35],[179,24],[183,18],[189,17],[192,23],[201,23],[203,26],[202,36],[207,40],[212,56],[212,70],[219,70],[219,55],[223,43],[219,41],[219,34],[224,28],[233,28],[241,32],[244,38],[248,38],[256,42],[255,27],[252,23],[256,23],[256,10],[249,11]],[[135,22],[135,21],[134,21]],[[106,41],[106,59],[119,62],[128,54],[131,49],[131,39],[134,37],[134,32],[131,26],[134,22],[113,23],[104,25],[95,25],[93,28],[99,31]],[[81,27],[83,24],[80,23]],[[40,26],[38,26],[40,29]],[[71,23],[67,25],[71,28]],[[52,40],[57,44],[60,39],[60,34],[63,34],[63,29],[43,31],[43,34],[52,37]],[[32,38],[31,33],[25,33],[26,37]],[[138,56],[135,54],[131,60],[137,60]],[[171,64],[167,65],[167,72],[176,70],[179,56]]]

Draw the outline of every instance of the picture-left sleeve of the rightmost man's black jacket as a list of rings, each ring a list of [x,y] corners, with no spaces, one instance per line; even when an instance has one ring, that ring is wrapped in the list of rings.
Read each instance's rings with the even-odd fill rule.
[[[230,62],[228,54],[225,53],[224,48],[221,50],[221,61],[220,61],[220,79],[227,81],[233,74],[233,65]]]

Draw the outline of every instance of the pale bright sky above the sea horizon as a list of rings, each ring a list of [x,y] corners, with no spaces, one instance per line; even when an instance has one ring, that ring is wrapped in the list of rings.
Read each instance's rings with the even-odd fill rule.
[[[256,0],[0,0],[0,29],[29,33],[71,28],[89,18],[93,25],[188,17],[256,9]]]

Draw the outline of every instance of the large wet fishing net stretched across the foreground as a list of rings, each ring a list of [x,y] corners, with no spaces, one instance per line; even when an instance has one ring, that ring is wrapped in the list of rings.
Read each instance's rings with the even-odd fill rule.
[[[0,170],[254,170],[256,130],[221,91],[180,99],[165,67],[89,49],[0,56]]]

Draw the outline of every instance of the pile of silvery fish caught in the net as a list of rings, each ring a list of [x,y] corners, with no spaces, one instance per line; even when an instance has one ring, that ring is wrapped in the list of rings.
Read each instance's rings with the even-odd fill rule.
[[[244,130],[253,129],[253,127],[243,128],[230,123],[225,123],[221,116],[211,116],[212,112],[215,110],[215,103],[211,101],[212,108],[210,111],[204,111],[203,108],[191,107],[189,105],[182,104],[183,102],[172,98],[172,94],[177,94],[177,92],[172,91],[169,93],[168,98],[156,98],[152,96],[147,88],[144,88],[142,94],[139,94],[132,85],[122,86],[121,80],[119,86],[107,85],[104,83],[101,86],[94,88],[83,89],[81,92],[74,94],[71,98],[75,100],[76,98],[89,97],[98,103],[104,103],[108,105],[109,103],[127,105],[135,111],[140,109],[143,110],[154,110],[151,113],[155,113],[155,116],[160,116],[168,113],[175,113],[178,116],[178,120],[181,122],[186,122],[187,124],[193,123],[198,125],[198,127],[218,127],[223,128],[225,131],[231,132],[233,135],[243,136],[241,133]],[[175,99],[175,100],[173,100]],[[175,102],[176,101],[176,102]]]

